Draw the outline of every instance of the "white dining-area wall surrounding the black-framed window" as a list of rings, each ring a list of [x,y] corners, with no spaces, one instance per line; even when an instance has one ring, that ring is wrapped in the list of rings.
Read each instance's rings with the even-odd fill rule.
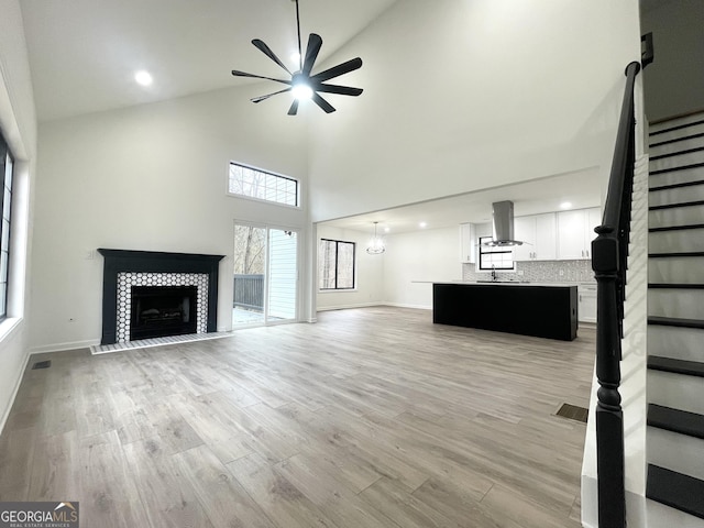
[[[330,239],[356,243],[356,287],[353,290],[345,292],[319,292],[316,274],[315,289],[317,292],[318,310],[378,305],[384,300],[383,276],[386,254],[370,255],[366,253],[366,246],[372,238],[371,230],[369,233],[364,233],[362,231],[319,224],[316,238],[318,241],[320,239]]]

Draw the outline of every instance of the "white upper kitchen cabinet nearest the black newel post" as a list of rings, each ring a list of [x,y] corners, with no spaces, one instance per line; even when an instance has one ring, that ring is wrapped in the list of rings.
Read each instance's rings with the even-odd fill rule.
[[[558,212],[558,258],[573,261],[592,257],[594,228],[601,223],[597,207]]]

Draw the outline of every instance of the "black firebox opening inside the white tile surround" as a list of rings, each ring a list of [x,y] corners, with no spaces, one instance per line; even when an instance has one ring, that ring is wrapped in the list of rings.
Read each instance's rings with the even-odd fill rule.
[[[196,286],[132,286],[130,341],[196,333]]]

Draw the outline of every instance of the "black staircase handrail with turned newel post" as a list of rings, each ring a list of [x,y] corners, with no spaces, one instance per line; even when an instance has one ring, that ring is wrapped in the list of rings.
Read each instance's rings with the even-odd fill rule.
[[[620,407],[620,360],[624,337],[624,300],[634,187],[635,110],[634,86],[640,64],[626,67],[626,90],[608,182],[602,226],[594,231],[592,270],[596,289],[596,469],[598,526],[626,526],[624,482],[624,414]]]

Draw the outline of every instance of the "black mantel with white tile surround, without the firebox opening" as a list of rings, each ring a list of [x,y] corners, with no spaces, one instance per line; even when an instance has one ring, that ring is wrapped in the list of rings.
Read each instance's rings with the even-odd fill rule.
[[[218,276],[224,255],[110,250],[102,273],[101,345],[130,341],[132,288],[195,287],[196,332],[211,333],[218,323]],[[191,311],[193,314],[193,311]]]

